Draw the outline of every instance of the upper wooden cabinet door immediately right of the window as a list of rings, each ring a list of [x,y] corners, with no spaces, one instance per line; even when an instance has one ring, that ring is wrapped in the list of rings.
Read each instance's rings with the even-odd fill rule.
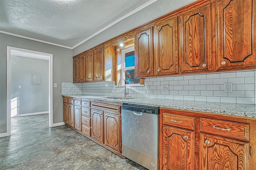
[[[152,27],[135,34],[135,76],[153,76],[153,32]]]

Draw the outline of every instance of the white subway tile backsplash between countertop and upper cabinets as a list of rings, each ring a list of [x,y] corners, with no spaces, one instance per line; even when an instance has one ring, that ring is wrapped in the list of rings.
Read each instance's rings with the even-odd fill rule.
[[[137,98],[255,104],[255,72],[250,70],[146,78],[145,86],[127,87],[127,90],[132,97]],[[224,93],[226,82],[232,82],[232,93]],[[169,84],[168,92],[162,92],[162,84]],[[123,96],[123,93],[124,87],[117,88],[114,82],[62,83],[62,94]]]

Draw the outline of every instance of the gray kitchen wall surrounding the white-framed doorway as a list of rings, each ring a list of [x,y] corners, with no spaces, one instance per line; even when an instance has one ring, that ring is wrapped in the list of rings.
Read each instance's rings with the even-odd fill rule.
[[[17,47],[53,54],[53,123],[63,122],[61,82],[72,82],[73,51],[0,33],[0,133],[6,133],[6,47]]]

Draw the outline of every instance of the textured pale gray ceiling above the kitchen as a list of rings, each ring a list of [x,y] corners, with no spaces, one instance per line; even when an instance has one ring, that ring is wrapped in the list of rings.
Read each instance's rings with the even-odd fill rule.
[[[73,47],[152,0],[0,0],[0,31]]]

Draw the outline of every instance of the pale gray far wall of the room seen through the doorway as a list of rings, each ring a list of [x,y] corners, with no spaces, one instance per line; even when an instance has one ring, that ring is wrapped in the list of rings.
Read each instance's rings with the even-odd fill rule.
[[[31,74],[33,73],[40,74],[40,84],[32,84]],[[21,86],[20,89],[18,88],[19,85]],[[18,115],[49,111],[48,94],[49,61],[12,55],[11,100],[16,98],[11,102],[12,111]]]

